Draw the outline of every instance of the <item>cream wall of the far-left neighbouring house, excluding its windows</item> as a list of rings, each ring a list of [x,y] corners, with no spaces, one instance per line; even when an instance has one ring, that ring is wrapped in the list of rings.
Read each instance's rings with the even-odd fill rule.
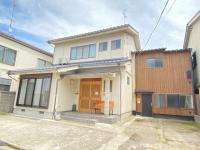
[[[52,57],[45,55],[43,53],[39,53],[33,49],[30,49],[26,46],[23,46],[21,44],[18,44],[14,41],[8,40],[1,36],[0,36],[0,45],[13,49],[17,52],[14,66],[0,63],[0,78],[11,79],[6,73],[8,70],[36,67],[38,58],[46,60],[48,62],[52,62]],[[18,88],[18,81],[16,82],[12,80],[10,90],[16,92],[17,88]]]

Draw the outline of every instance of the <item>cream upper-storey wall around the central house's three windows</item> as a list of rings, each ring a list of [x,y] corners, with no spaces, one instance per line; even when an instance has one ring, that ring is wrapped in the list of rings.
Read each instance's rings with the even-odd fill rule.
[[[111,50],[111,41],[117,39],[121,39],[121,49]],[[100,42],[108,42],[107,51],[99,52]],[[70,60],[71,47],[83,46],[88,44],[96,44],[96,58]],[[130,57],[130,51],[135,49],[136,48],[135,48],[134,38],[124,32],[101,35],[95,38],[83,38],[81,40],[75,40],[55,45],[53,63],[58,64],[60,60],[63,60],[63,62],[67,61],[70,63],[70,62]]]

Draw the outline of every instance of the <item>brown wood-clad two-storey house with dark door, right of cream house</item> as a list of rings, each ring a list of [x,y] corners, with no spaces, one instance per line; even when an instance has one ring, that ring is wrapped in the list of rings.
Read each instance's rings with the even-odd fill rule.
[[[193,78],[189,49],[153,49],[133,54],[136,112],[144,116],[193,116]]]

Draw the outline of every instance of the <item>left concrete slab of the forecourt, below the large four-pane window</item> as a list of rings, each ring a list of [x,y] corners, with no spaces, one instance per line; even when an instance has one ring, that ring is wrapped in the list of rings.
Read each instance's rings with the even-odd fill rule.
[[[28,150],[98,149],[113,137],[114,133],[94,127],[0,116],[0,140]]]

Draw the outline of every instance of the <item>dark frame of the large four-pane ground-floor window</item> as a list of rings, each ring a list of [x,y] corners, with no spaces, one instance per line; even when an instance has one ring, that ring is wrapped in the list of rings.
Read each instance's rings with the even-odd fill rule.
[[[42,89],[43,89],[43,80],[45,78],[50,78],[49,93],[48,93],[48,102],[47,102],[47,106],[41,106],[41,92],[42,92]],[[27,81],[27,86],[28,86],[29,80],[34,79],[34,88],[33,88],[33,92],[32,92],[31,105],[26,105],[27,86],[26,86],[26,91],[25,91],[24,104],[19,104],[19,97],[20,97],[20,93],[21,93],[21,87],[22,87],[22,80],[23,79],[27,79],[28,80]],[[34,94],[35,94],[35,87],[36,87],[37,79],[42,79],[42,87],[41,87],[41,91],[40,91],[39,106],[34,106],[33,105],[33,100],[34,100]],[[23,76],[23,77],[21,77],[20,78],[20,84],[19,84],[19,90],[18,90],[18,94],[17,94],[16,106],[28,107],[28,108],[38,108],[38,109],[48,109],[48,107],[49,107],[50,92],[51,92],[51,84],[52,84],[52,74],[44,74],[44,75],[37,75],[37,76],[31,75],[31,76]]]

